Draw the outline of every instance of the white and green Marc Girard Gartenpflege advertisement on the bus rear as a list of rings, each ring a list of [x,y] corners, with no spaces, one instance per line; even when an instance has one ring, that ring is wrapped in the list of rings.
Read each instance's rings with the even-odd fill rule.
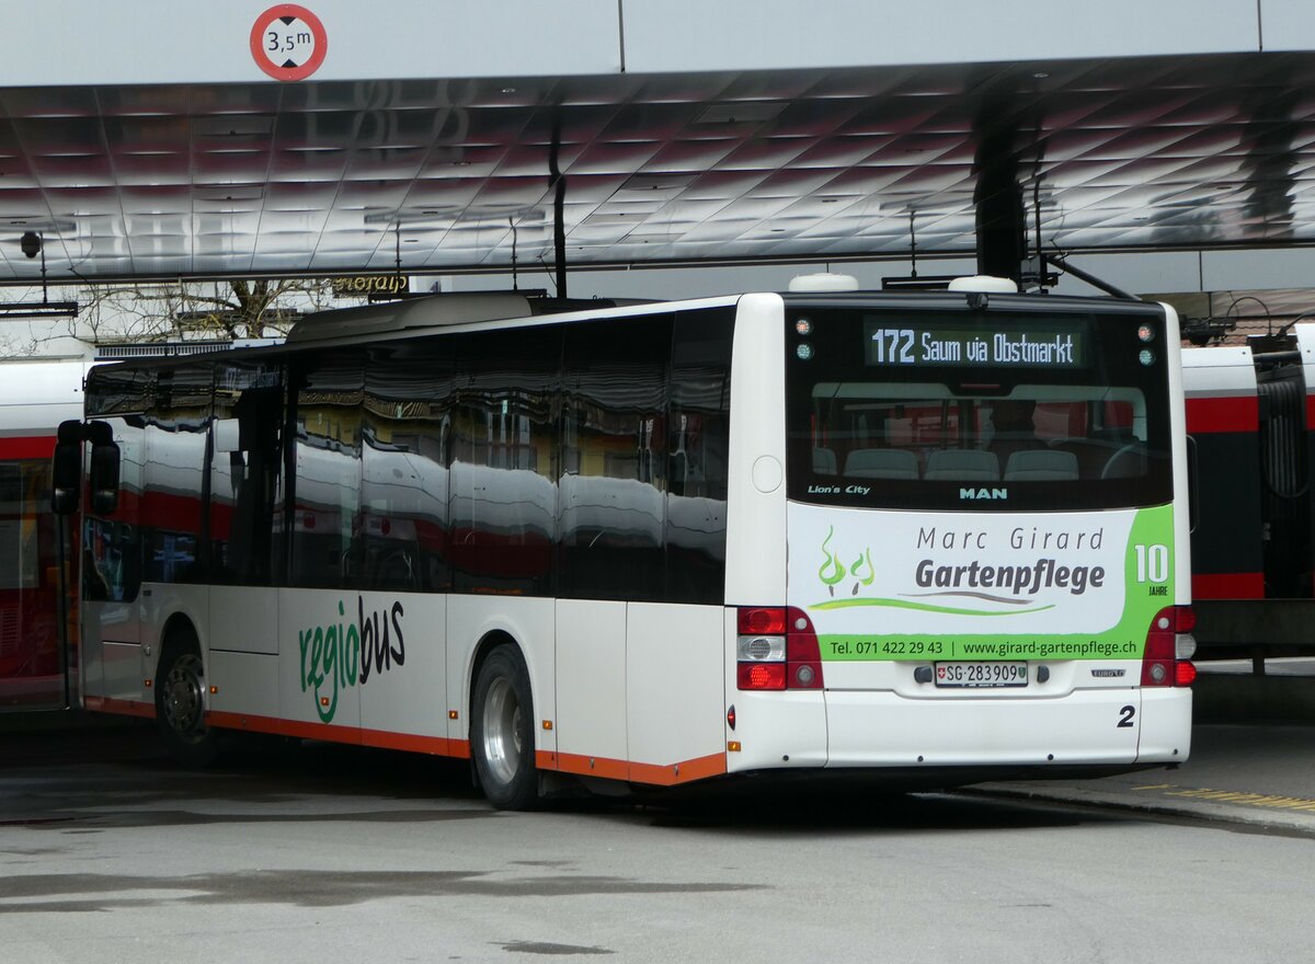
[[[986,493],[989,494],[989,489]],[[789,509],[789,600],[823,660],[1140,659],[1174,598],[1173,510]]]

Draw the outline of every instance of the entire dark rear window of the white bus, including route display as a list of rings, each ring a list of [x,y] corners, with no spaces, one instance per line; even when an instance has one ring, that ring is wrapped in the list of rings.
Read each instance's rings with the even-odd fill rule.
[[[790,497],[1001,510],[1168,501],[1162,320],[1147,341],[1148,317],[794,309]]]

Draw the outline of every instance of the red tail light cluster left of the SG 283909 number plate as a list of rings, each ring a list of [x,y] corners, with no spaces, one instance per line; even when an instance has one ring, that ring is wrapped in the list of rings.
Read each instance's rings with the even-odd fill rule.
[[[822,652],[803,610],[742,606],[735,622],[739,689],[822,689]]]

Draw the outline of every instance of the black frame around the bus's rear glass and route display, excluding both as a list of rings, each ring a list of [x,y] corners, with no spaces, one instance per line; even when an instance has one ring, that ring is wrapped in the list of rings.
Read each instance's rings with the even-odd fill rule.
[[[957,296],[788,300],[785,312],[786,493],[792,501],[865,509],[963,512],[1059,512],[1143,508],[1174,497],[1166,322],[1157,305],[1095,300],[992,296],[985,310]],[[1047,331],[1084,330],[1088,363],[1082,367],[881,366],[865,358],[865,331],[872,318],[892,324],[917,316],[919,322],[977,330],[986,337],[1001,326],[1034,324]],[[807,326],[800,322],[807,321]],[[1149,325],[1149,341],[1139,327]],[[806,331],[803,330],[806,329]],[[803,347],[806,346],[806,347]],[[1139,354],[1155,359],[1141,364]],[[1131,376],[1136,377],[1131,377]],[[818,383],[943,383],[951,396],[980,398],[1009,395],[1016,384],[1127,385],[1143,392],[1147,414],[1147,471],[1132,477],[1078,481],[967,481],[880,479],[864,481],[818,471],[814,463],[813,391]],[[947,447],[952,447],[948,446]],[[1116,451],[1111,448],[1111,455]],[[855,484],[857,483],[857,484]],[[1005,497],[978,498],[981,489]],[[965,491],[973,498],[965,501]]]

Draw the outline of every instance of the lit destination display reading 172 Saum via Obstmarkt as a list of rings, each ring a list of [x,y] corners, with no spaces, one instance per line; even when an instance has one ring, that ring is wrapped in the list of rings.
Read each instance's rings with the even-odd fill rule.
[[[869,366],[960,366],[992,368],[1082,368],[1084,330],[999,327],[959,329],[949,325],[901,325],[894,318],[864,324],[864,362]]]

